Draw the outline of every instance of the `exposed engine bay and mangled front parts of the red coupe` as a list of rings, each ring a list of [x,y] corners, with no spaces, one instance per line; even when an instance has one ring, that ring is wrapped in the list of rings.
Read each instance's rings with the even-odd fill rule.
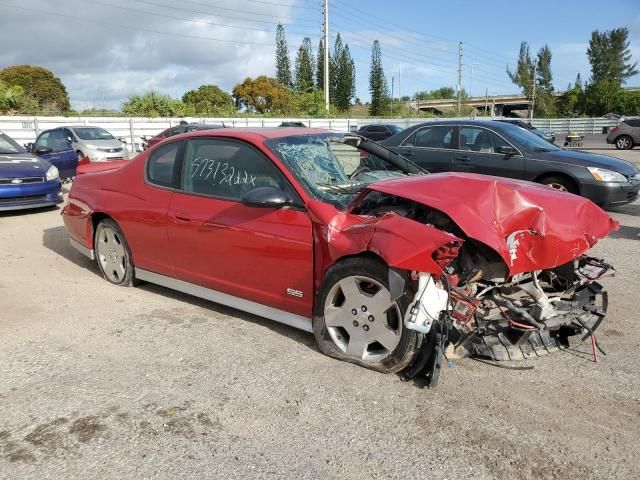
[[[607,311],[607,293],[598,280],[615,270],[603,260],[582,254],[550,269],[511,274],[495,250],[469,238],[435,208],[371,191],[351,213],[393,213],[462,240],[433,253],[441,275],[409,274],[415,295],[404,324],[424,336],[406,379],[435,386],[445,361],[471,355],[492,362],[522,360],[575,340],[591,340],[596,359],[597,350],[605,353],[594,334]]]

